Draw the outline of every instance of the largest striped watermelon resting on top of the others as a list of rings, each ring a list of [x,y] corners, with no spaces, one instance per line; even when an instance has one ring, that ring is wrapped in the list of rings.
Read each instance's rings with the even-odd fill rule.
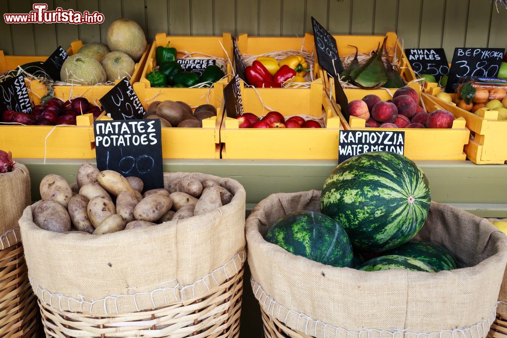
[[[414,162],[378,152],[338,165],[324,183],[320,210],[342,224],[354,246],[382,252],[419,232],[430,201],[428,180]]]

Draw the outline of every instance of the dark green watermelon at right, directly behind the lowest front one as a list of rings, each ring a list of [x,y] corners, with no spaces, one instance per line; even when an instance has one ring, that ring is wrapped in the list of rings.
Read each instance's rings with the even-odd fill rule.
[[[400,247],[389,250],[386,254],[419,259],[437,271],[458,269],[458,263],[454,256],[440,245],[431,242],[410,241]]]

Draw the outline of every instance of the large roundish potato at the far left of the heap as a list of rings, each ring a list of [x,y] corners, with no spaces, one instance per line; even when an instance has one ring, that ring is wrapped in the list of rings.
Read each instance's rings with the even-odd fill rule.
[[[44,230],[64,233],[70,230],[70,216],[58,202],[44,201],[33,209],[33,222]]]

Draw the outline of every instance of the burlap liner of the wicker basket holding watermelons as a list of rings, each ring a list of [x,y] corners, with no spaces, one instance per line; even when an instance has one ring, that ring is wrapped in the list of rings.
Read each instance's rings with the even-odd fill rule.
[[[435,274],[334,268],[263,239],[284,214],[318,211],[319,199],[319,191],[274,194],[246,221],[252,289],[265,313],[319,338],[486,335],[507,261],[505,236],[490,222],[432,203],[416,238],[443,245],[468,266]]]

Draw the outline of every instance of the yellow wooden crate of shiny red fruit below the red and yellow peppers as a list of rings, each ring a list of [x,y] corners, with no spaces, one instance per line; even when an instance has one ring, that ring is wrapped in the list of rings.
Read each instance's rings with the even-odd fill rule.
[[[222,158],[336,160],[338,133],[343,127],[322,89],[321,81],[316,80],[307,89],[257,88],[256,93],[245,90],[241,83],[245,112],[263,116],[273,109],[285,117],[323,116],[326,128],[240,129],[238,120],[227,117],[223,112],[220,129],[224,143]]]

